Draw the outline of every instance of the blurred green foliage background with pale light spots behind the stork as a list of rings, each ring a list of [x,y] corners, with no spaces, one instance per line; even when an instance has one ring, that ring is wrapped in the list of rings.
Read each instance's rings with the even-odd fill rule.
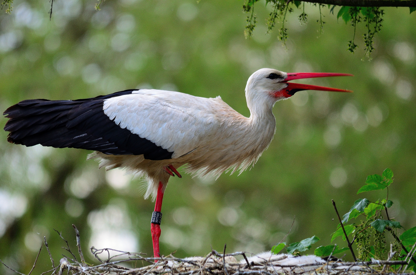
[[[416,12],[385,8],[368,61],[364,24],[357,27],[359,49],[350,54],[353,28],[325,8],[320,34],[318,8],[309,4],[307,25],[297,20],[300,10],[288,16],[285,49],[277,39],[280,24],[265,34],[265,1],[255,6],[252,39],[244,38],[241,0],[107,0],[101,11],[95,3],[56,0],[50,21],[49,1],[15,0],[12,14],[0,15],[2,112],[25,99],[151,87],[220,95],[249,116],[244,88],[260,68],[355,75],[302,81],[352,94],[307,91],[277,102],[275,138],[251,170],[218,180],[171,178],[162,209],[163,254],[204,255],[211,246],[222,251],[224,243],[228,252],[269,250],[294,217],[286,242],[316,235],[321,241],[312,248],[328,245],[338,224],[331,199],[344,214],[359,198],[385,197],[385,191],[356,192],[367,175],[387,167],[395,175],[390,217],[406,229],[416,225]],[[0,131],[1,260],[27,273],[46,236],[59,261],[64,243],[53,229],[74,248],[72,224],[90,263],[90,246],[153,254],[154,203],[143,199],[141,180],[98,170],[97,162],[86,161],[89,151],[27,148],[8,144],[6,136]],[[336,242],[345,246],[341,238]],[[44,250],[36,270],[49,268]],[[9,271],[1,267],[0,273]]]

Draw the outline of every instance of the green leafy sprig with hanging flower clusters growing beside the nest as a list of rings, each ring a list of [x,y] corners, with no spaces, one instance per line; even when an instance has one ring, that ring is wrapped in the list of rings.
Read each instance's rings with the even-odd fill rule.
[[[349,212],[344,214],[342,219],[339,217],[335,202],[332,201],[340,223],[337,226],[337,230],[332,233],[331,243],[341,236],[344,241],[347,241],[349,247],[339,248],[337,244],[319,246],[314,250],[314,254],[319,257],[327,257],[351,250],[353,258],[355,259],[352,248],[352,244],[355,244],[357,246],[356,251],[358,260],[366,261],[371,260],[371,258],[382,260],[385,257],[386,251],[390,248],[390,243],[386,242],[386,233],[388,231],[395,239],[395,241],[391,243],[392,251],[395,251],[391,260],[404,260],[409,254],[411,247],[416,243],[416,226],[404,231],[400,236],[398,235],[397,231],[403,229],[403,227],[399,221],[390,218],[388,213],[388,209],[393,205],[393,202],[389,200],[389,186],[392,183],[393,172],[389,168],[384,170],[381,175],[369,175],[364,186],[358,190],[357,194],[376,190],[386,190],[386,198],[375,202],[371,202],[366,198],[356,200],[349,209]],[[386,218],[384,218],[384,214]],[[364,219],[357,224],[347,224],[357,217]],[[350,235],[352,235],[351,242],[348,240],[348,236]],[[319,241],[319,238],[313,236],[300,242],[291,243],[288,246],[286,246],[286,243],[278,243],[276,246],[273,246],[272,253],[277,254],[286,247],[287,253],[299,255],[300,252],[309,250],[312,247],[312,244],[317,241]],[[411,260],[412,263],[409,264],[408,269],[416,271],[416,260],[414,257],[409,257],[409,260]],[[391,268],[393,271],[396,271],[398,267],[391,266]]]

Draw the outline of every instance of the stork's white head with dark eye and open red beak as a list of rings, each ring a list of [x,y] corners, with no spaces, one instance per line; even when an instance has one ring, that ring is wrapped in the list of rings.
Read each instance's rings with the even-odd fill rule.
[[[276,101],[286,99],[302,90],[319,90],[331,92],[352,92],[350,90],[328,88],[315,85],[299,83],[288,83],[287,81],[302,78],[317,78],[327,76],[353,76],[347,73],[285,73],[275,69],[263,68],[254,72],[248,78],[245,87],[247,104],[250,105],[271,105]],[[251,109],[251,108],[250,108]]]

